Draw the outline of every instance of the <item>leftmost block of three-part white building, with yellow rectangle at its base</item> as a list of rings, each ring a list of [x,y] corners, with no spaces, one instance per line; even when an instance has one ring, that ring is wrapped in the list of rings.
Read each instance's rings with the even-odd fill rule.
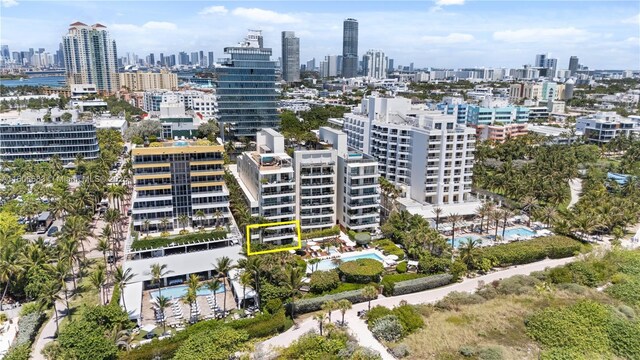
[[[256,136],[257,151],[238,156],[237,172],[245,198],[257,215],[268,222],[296,220],[296,184],[293,160],[284,149],[284,137],[273,129]],[[269,227],[251,234],[252,242],[276,245],[298,241],[295,225]]]

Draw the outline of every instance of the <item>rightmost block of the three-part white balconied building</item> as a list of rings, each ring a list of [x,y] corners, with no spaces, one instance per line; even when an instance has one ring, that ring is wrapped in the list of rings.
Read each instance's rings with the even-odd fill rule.
[[[378,162],[370,155],[350,149],[347,134],[320,128],[320,141],[337,153],[337,218],[344,228],[373,232],[380,224]]]

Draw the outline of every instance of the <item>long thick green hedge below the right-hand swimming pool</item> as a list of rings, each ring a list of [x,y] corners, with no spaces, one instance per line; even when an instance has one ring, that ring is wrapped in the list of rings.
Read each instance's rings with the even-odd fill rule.
[[[574,256],[583,244],[566,236],[547,236],[527,241],[486,247],[478,250],[482,258],[495,260],[498,266],[528,264],[545,258]]]

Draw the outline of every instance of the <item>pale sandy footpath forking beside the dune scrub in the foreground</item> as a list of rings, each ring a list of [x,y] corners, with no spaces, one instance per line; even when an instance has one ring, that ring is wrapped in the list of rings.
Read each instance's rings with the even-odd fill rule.
[[[566,263],[574,261],[575,259],[576,258],[546,259],[532,264],[515,266],[473,279],[464,279],[464,281],[462,282],[440,287],[437,289],[401,296],[381,297],[377,300],[371,301],[371,306],[373,307],[376,305],[382,305],[391,308],[394,306],[398,306],[401,301],[406,301],[407,303],[414,305],[435,303],[447,296],[447,294],[454,291],[469,293],[474,292],[478,288],[478,284],[481,281],[485,284],[488,284],[492,281],[508,278],[514,275],[528,275],[534,271],[544,270],[547,267],[564,265]],[[373,335],[367,328],[366,323],[357,316],[358,311],[365,310],[367,309],[367,307],[368,304],[366,302],[354,304],[353,308],[347,311],[347,313],[345,314],[347,327],[349,328],[351,334],[356,337],[361,346],[378,351],[382,356],[382,359],[384,360],[392,360],[393,357],[389,353],[387,353],[386,348],[373,337]],[[334,317],[339,317],[339,312],[336,311],[333,315]],[[279,334],[278,336],[275,336],[258,344],[256,346],[256,349],[258,349],[261,354],[273,353],[274,348],[287,347],[303,334],[317,328],[317,323],[312,318],[306,319],[298,325],[299,326],[297,328],[291,328],[288,331]]]

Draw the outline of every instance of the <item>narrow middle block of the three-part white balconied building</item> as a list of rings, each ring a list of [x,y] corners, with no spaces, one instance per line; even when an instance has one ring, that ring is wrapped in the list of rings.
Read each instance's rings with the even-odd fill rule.
[[[336,224],[336,151],[298,150],[293,159],[302,231],[333,227]]]

